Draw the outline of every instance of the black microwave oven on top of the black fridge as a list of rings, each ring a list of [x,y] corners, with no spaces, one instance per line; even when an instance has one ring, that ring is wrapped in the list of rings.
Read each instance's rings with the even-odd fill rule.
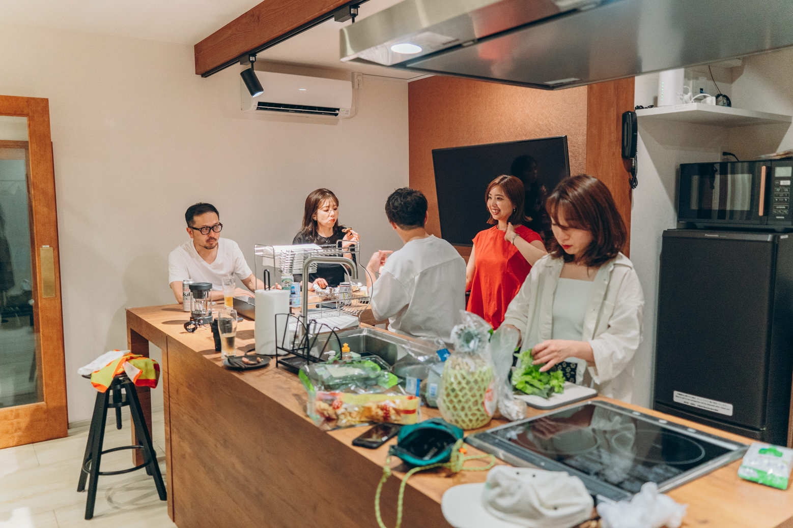
[[[677,221],[694,227],[793,230],[793,159],[683,163]]]

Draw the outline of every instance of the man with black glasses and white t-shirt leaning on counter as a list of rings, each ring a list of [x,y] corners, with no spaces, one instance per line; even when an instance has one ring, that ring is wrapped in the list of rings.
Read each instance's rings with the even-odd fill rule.
[[[242,281],[250,291],[237,288],[235,297],[253,297],[251,291],[264,288],[245,262],[239,245],[228,238],[220,238],[223,224],[211,203],[194,203],[185,211],[187,234],[190,240],[179,245],[168,255],[168,282],[176,302],[182,302],[182,281],[212,283],[210,299],[223,298],[223,278],[230,275]]]

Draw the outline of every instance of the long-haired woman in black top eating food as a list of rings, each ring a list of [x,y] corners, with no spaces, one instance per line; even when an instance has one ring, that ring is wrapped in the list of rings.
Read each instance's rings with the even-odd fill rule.
[[[339,224],[339,199],[330,189],[319,188],[305,198],[303,226],[294,236],[293,244],[337,245],[348,248],[357,244],[358,233]],[[344,281],[344,268],[339,264],[317,264],[316,273],[308,275],[309,290],[316,288],[337,287]],[[296,281],[303,279],[295,275]]]

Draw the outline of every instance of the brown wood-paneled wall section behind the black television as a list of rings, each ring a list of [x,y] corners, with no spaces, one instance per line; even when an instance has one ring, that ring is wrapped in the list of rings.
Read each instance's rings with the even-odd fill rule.
[[[630,186],[620,139],[622,112],[633,102],[633,78],[553,92],[454,77],[411,82],[410,186],[427,196],[427,230],[440,235],[433,149],[566,135],[570,173],[603,180],[630,233]]]

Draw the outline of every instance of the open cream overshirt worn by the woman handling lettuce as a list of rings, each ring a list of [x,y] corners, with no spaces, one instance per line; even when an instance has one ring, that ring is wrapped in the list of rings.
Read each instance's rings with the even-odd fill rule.
[[[504,325],[515,325],[522,348],[531,348],[553,335],[554,292],[564,260],[543,256],[509,304]],[[633,396],[634,354],[642,342],[644,294],[634,265],[619,253],[600,266],[584,313],[581,340],[592,345],[595,366],[588,367],[592,385],[603,396],[630,402]]]

